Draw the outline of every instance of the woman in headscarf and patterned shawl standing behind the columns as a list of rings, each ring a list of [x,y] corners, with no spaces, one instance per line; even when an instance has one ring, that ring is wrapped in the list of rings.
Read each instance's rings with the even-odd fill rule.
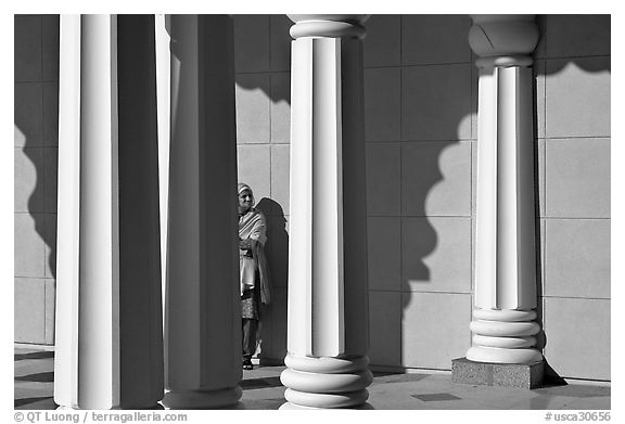
[[[254,194],[247,184],[239,184],[239,265],[241,271],[241,317],[243,324],[243,369],[252,370],[256,351],[259,304],[269,305],[269,269],[265,257],[267,224],[254,208]]]

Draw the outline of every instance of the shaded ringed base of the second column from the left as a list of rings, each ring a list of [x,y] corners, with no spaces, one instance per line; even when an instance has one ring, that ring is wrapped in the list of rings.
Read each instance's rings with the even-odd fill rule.
[[[217,409],[235,404],[243,390],[240,386],[218,390],[171,390],[165,394],[167,409]]]

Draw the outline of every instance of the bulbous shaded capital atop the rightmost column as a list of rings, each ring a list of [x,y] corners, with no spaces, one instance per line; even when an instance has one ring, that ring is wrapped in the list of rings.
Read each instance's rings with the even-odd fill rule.
[[[469,44],[485,62],[496,66],[532,64],[531,54],[539,38],[536,15],[470,15]]]

